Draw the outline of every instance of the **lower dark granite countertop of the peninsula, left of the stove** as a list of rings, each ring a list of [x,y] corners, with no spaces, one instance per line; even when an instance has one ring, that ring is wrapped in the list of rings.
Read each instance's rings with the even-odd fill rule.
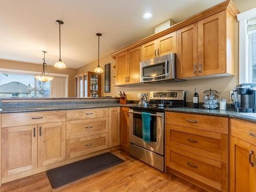
[[[56,110],[77,110],[77,109],[92,109],[92,108],[112,108],[114,106],[133,106],[137,104],[127,103],[109,103],[109,104],[80,104],[80,105],[53,105],[53,106],[25,106],[2,108],[0,113],[20,113],[20,112],[36,112],[36,111],[56,111]]]

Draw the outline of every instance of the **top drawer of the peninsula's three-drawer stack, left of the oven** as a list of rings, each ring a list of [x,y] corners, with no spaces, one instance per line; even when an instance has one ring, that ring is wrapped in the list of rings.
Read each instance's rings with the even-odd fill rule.
[[[78,119],[90,119],[90,118],[97,118],[97,117],[108,117],[108,116],[109,116],[108,108],[67,111],[67,121],[78,120]]]

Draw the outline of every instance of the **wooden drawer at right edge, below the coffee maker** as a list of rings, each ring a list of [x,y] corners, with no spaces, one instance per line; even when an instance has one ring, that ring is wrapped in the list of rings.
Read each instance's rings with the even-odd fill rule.
[[[255,145],[256,124],[230,119],[230,135]]]

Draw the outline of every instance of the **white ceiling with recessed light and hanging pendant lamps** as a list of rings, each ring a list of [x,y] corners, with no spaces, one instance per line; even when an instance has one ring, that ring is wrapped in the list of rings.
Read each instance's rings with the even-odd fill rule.
[[[0,58],[48,65],[61,57],[69,68],[97,59],[96,33],[102,33],[100,56],[105,56],[154,33],[154,26],[171,18],[179,22],[223,0],[1,0]],[[144,19],[143,13],[152,18]]]

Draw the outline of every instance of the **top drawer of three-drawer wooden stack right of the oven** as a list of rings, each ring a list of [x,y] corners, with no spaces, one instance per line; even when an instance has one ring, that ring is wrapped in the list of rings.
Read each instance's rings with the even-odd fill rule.
[[[228,134],[228,118],[166,112],[166,123]]]

